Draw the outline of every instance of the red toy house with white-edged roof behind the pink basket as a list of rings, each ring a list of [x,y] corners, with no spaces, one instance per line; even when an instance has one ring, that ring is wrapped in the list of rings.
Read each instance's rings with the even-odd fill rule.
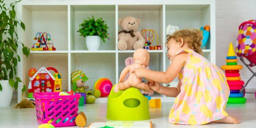
[[[52,75],[48,70],[53,70]],[[38,92],[61,92],[61,75],[53,67],[41,67],[38,71],[35,68],[29,70],[29,98],[33,98],[33,93]]]

